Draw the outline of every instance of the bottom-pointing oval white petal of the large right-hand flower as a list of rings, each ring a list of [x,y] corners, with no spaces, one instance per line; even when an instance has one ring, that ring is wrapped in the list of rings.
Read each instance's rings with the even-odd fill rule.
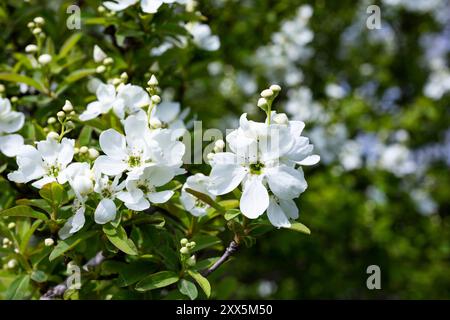
[[[262,184],[262,178],[251,177],[244,187],[240,201],[242,214],[250,219],[256,219],[266,211],[269,206],[269,194]]]

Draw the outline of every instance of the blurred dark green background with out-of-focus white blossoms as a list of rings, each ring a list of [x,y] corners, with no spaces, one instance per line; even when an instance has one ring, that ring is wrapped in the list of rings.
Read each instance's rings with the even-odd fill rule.
[[[31,41],[26,23],[37,15],[59,46],[73,32],[60,27],[71,3],[2,3],[0,68]],[[242,112],[261,120],[259,92],[280,84],[275,108],[305,121],[322,157],[297,201],[312,234],[275,230],[241,248],[211,276],[214,298],[450,298],[448,1],[199,1],[220,49],[160,55],[152,50],[178,32],[164,29],[168,8],[155,16],[160,29],[143,33],[129,9],[109,36],[93,19],[101,2],[76,3],[89,21],[80,52],[99,44],[136,84],[156,70],[163,98],[190,107],[204,128],[233,128]],[[372,4],[381,29],[366,26]],[[74,105],[86,104],[86,82],[65,92]],[[31,112],[35,101],[16,90]],[[63,101],[38,101],[37,121]],[[366,287],[369,265],[381,269],[381,290]]]

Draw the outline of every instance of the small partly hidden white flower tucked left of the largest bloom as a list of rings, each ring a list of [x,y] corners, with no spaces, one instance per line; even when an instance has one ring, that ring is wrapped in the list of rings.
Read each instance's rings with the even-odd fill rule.
[[[186,189],[189,188],[201,192],[214,200],[216,197],[208,191],[208,187],[209,177],[202,173],[196,173],[195,175],[190,176],[183,185],[180,196],[181,204],[187,211],[196,217],[204,216],[207,213],[209,205],[197,199],[197,197],[187,192]]]

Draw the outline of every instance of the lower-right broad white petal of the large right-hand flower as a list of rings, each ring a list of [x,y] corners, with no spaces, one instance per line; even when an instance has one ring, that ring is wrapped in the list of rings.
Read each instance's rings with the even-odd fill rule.
[[[280,199],[294,199],[308,186],[303,170],[281,165],[266,170],[270,190]]]

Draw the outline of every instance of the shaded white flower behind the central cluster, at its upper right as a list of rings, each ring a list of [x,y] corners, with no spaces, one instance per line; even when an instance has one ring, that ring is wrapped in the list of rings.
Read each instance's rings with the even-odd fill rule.
[[[161,122],[161,128],[174,130],[177,138],[181,137],[186,131],[186,125],[183,120],[187,117],[189,109],[184,109],[180,113],[180,103],[162,102],[153,109],[151,120],[157,119]]]

